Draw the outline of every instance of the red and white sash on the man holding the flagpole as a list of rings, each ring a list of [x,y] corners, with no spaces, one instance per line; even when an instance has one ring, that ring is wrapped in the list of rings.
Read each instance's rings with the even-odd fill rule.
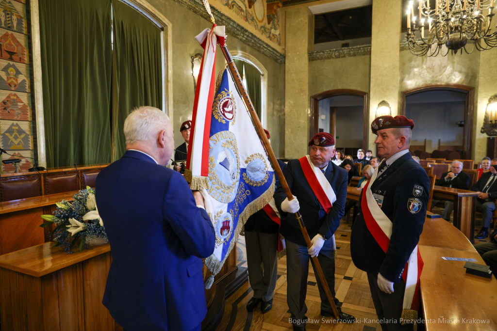
[[[333,202],[336,201],[336,195],[333,191],[333,188],[331,188],[330,182],[328,182],[325,174],[323,174],[321,169],[312,164],[309,155],[301,157],[299,161],[300,166],[302,167],[302,171],[304,172],[304,176],[306,176],[307,182],[318,198],[319,203],[321,203],[323,209],[325,209],[326,213],[328,214],[331,210]],[[331,236],[331,240],[333,241],[333,250],[335,251],[336,255],[334,234]]]

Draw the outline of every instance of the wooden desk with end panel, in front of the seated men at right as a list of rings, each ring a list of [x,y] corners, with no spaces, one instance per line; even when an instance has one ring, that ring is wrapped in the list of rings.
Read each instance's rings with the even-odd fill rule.
[[[454,226],[461,230],[471,243],[475,243],[475,209],[478,193],[467,190],[435,186],[433,199],[454,202]]]

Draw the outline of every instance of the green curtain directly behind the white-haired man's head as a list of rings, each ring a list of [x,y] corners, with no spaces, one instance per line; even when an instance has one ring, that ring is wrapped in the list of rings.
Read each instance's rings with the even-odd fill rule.
[[[119,0],[112,0],[112,160],[126,151],[124,120],[140,106],[162,108],[161,30]]]

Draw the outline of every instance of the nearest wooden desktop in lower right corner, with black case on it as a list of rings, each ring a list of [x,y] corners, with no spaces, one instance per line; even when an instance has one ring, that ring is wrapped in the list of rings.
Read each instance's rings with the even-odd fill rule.
[[[423,231],[424,232],[424,231]],[[473,258],[485,264],[476,252],[419,246],[424,266],[421,273],[421,303],[426,331],[497,330],[497,280],[467,274],[465,262],[441,257]],[[482,319],[488,323],[470,324]],[[448,320],[456,319],[450,322]],[[463,320],[466,319],[466,320]]]

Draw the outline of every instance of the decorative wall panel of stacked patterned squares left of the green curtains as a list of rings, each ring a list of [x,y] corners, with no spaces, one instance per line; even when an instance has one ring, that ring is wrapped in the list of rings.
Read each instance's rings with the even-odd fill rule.
[[[26,4],[27,2],[27,4]],[[0,0],[0,147],[1,160],[21,159],[19,171],[31,168],[35,157],[31,75],[29,71],[26,0]],[[14,166],[1,163],[1,173]]]

